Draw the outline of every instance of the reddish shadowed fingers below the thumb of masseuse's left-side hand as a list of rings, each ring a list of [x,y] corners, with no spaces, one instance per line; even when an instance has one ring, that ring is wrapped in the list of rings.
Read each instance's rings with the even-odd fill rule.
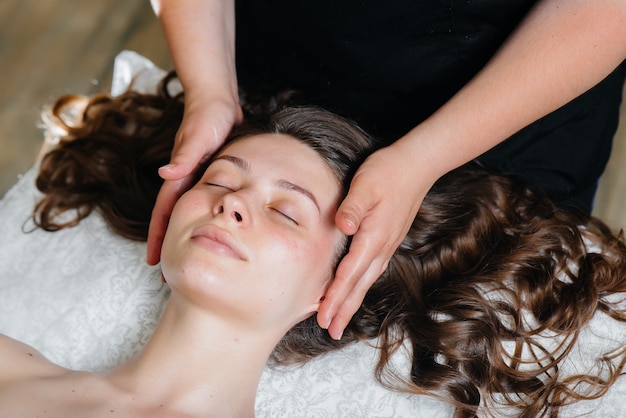
[[[166,180],[159,190],[150,226],[148,228],[148,245],[146,250],[147,262],[149,265],[157,264],[161,259],[161,246],[165,237],[165,230],[169,223],[172,209],[178,198],[189,188],[193,181],[193,176],[187,176],[181,180]]]

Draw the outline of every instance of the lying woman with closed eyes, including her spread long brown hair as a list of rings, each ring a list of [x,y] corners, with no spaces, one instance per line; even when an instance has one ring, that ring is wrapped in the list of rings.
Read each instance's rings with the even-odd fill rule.
[[[88,101],[83,120],[42,162],[40,226],[68,226],[96,208],[116,231],[146,238],[156,168],[183,114],[166,84],[156,96]],[[62,99],[53,113],[62,119],[77,101]],[[250,415],[268,358],[303,362],[372,338],[381,382],[450,402],[458,416],[501,406],[555,415],[601,396],[623,372],[622,339],[598,359],[606,369],[561,373],[594,314],[626,321],[622,237],[476,166],[437,182],[342,338],[330,338],[311,315],[346,249],[333,216],[371,140],[319,109],[266,115],[266,107],[247,108],[246,122],[173,211],[162,253],[172,297],[146,349],[93,375],[3,341],[0,402],[46,411],[74,402],[104,415]],[[77,210],[73,221],[57,218],[67,210]],[[402,344],[411,369],[398,375],[388,366]],[[33,391],[39,405],[23,401]]]

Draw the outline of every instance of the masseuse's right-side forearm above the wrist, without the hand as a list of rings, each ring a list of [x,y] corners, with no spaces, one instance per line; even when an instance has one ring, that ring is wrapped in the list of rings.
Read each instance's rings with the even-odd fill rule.
[[[582,94],[625,57],[626,2],[544,0],[472,81],[397,145],[435,181]]]

